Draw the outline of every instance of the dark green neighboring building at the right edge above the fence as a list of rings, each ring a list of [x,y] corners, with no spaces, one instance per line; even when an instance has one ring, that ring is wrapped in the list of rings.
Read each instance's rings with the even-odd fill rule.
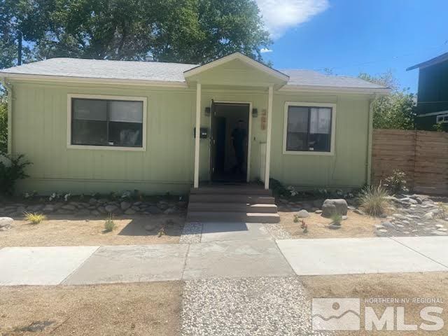
[[[412,69],[419,69],[417,129],[432,131],[441,123],[448,131],[448,52],[407,68]]]

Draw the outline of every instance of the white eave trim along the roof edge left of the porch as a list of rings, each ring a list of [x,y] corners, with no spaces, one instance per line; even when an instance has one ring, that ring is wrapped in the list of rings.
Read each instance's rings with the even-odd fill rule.
[[[111,85],[143,85],[154,87],[188,87],[186,82],[168,81],[168,80],[144,80],[144,79],[118,79],[118,78],[94,78],[94,77],[72,77],[72,76],[52,76],[52,75],[33,75],[28,73],[6,73],[0,72],[0,78],[10,78],[18,80],[35,80],[50,82],[70,82],[70,83],[92,83],[92,84],[111,84]]]

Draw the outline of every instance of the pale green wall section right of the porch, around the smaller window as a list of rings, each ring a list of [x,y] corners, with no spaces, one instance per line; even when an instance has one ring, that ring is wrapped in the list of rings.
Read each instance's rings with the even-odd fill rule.
[[[335,155],[283,154],[285,102],[337,104]],[[282,183],[302,187],[358,187],[367,182],[367,97],[275,94],[272,115],[271,174]]]

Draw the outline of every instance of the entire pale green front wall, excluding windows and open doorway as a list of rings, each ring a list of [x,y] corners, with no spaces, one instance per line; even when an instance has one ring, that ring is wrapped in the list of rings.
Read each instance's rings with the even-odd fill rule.
[[[233,90],[232,90],[233,89]],[[186,193],[193,185],[195,90],[118,87],[70,83],[13,83],[13,153],[33,162],[20,190],[41,193]],[[66,146],[67,94],[147,97],[146,151],[72,149]],[[260,177],[261,128],[267,90],[236,90],[204,85],[201,125],[210,127],[204,109],[216,102],[251,102],[258,109],[251,127],[251,180]],[[285,102],[337,104],[335,155],[283,154]],[[306,187],[351,187],[366,182],[369,102],[366,95],[274,92],[271,177]],[[200,181],[209,179],[209,139],[200,139]]]

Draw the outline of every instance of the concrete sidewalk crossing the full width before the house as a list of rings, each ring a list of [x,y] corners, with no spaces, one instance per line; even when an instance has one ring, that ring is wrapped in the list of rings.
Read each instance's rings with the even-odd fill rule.
[[[448,272],[448,237],[284,239],[228,232],[195,244],[6,247],[0,286]],[[215,232],[214,237],[218,236]]]

